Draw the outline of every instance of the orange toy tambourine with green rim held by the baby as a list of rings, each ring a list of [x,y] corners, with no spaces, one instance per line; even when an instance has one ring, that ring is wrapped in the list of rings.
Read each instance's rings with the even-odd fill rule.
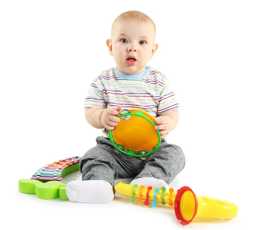
[[[124,109],[117,117],[121,119],[118,125],[112,131],[106,130],[117,153],[146,159],[157,150],[161,135],[154,130],[153,116],[136,109]]]

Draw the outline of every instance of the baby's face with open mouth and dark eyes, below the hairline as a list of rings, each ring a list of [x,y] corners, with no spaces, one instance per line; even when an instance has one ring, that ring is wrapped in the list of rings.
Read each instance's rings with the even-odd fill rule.
[[[108,47],[116,67],[126,74],[140,74],[154,55],[155,29],[151,22],[117,21]]]

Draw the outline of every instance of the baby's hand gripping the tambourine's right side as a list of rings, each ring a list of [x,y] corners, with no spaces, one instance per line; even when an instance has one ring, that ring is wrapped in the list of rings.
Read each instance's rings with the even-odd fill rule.
[[[157,116],[154,124],[157,125],[154,130],[159,130],[161,139],[166,138],[169,132],[175,128],[175,121],[170,116]]]

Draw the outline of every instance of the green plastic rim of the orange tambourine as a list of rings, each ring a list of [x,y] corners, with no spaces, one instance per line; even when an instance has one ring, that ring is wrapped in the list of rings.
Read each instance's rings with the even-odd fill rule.
[[[127,113],[127,114],[121,114],[121,115],[119,115],[119,116],[117,116],[117,117],[122,118],[123,116],[140,116],[140,117],[146,119],[148,122],[150,122],[151,125],[153,125],[154,127],[156,126],[156,125],[154,124],[154,122],[152,122],[152,121],[151,121],[150,119],[148,119],[147,117],[143,116],[143,115],[142,115],[142,112],[140,112],[140,111],[137,111],[136,114]],[[113,135],[112,135],[112,133],[111,133],[111,130],[108,131],[108,136],[109,136],[109,139],[110,139],[111,143],[113,144],[113,146],[114,146],[117,150],[119,150],[121,153],[124,153],[124,154],[129,155],[129,156],[137,156],[137,157],[148,156],[148,155],[154,153],[154,152],[158,149],[158,147],[159,147],[159,145],[160,145],[160,142],[161,142],[161,135],[160,135],[159,130],[157,130],[157,136],[158,136],[158,143],[157,143],[157,145],[153,148],[152,151],[150,151],[150,152],[148,152],[148,153],[145,153],[145,154],[139,154],[139,155],[137,155],[137,154],[134,154],[134,150],[128,150],[128,153],[126,153],[124,150],[120,149],[120,148],[115,144],[115,142],[114,142],[114,140],[113,140]]]

